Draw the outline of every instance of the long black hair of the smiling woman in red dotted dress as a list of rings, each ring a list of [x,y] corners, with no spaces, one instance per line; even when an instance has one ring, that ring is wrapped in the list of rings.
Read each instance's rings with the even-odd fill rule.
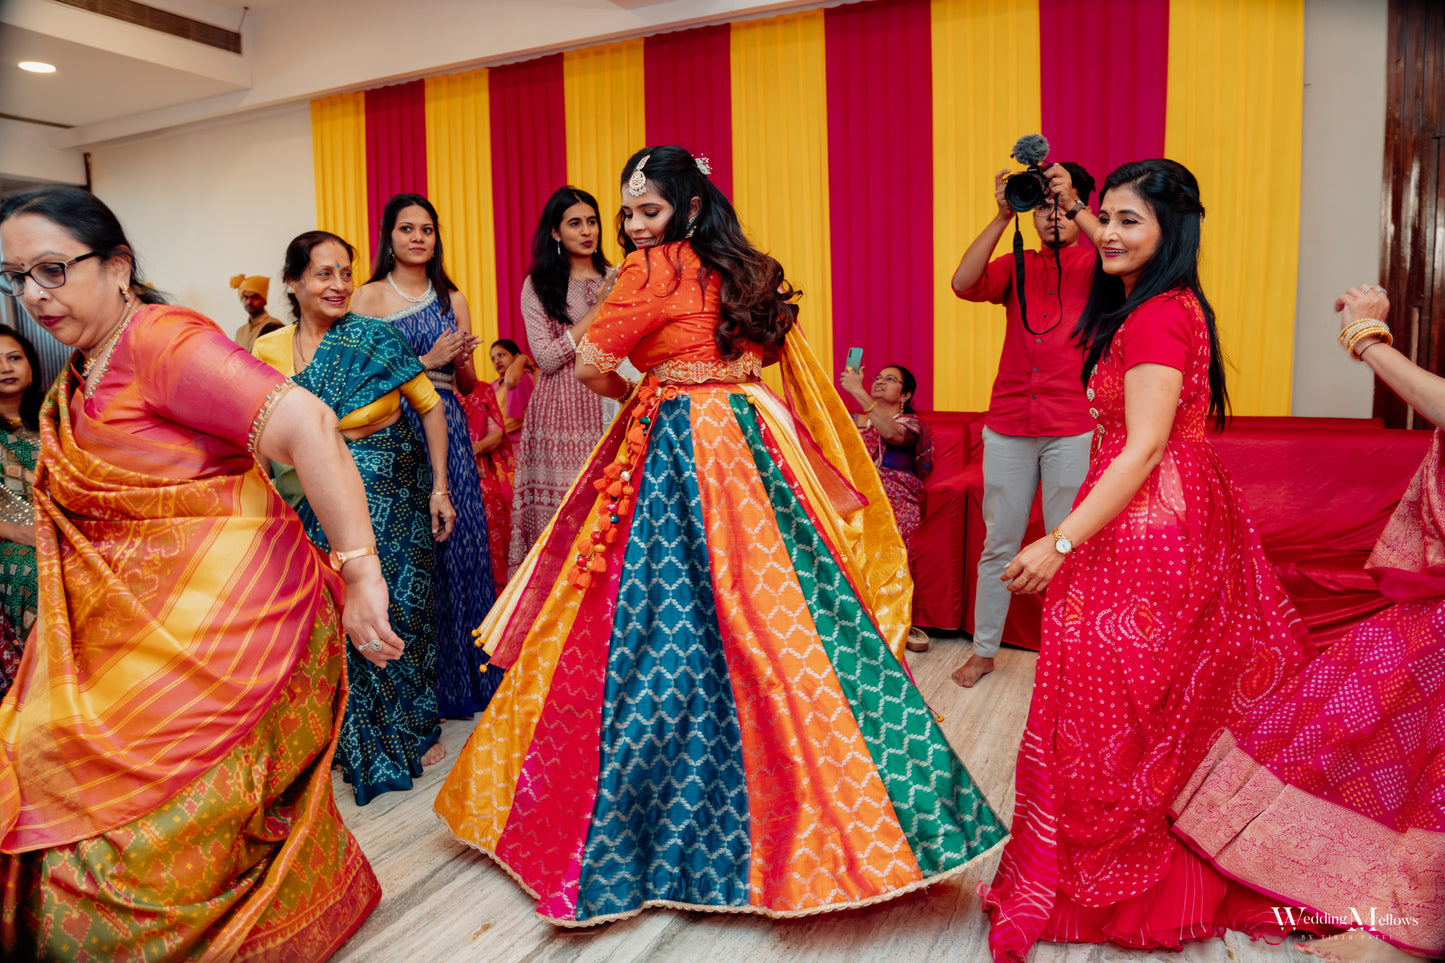
[[[1134,282],[1134,289],[1126,296],[1121,278],[1104,272],[1104,262],[1094,263],[1094,282],[1090,286],[1084,312],[1074,328],[1078,346],[1084,348],[1084,372],[1081,380],[1088,385],[1090,373],[1114,343],[1124,320],[1153,296],[1168,291],[1186,288],[1194,292],[1204,311],[1209,330],[1209,414],[1221,429],[1230,416],[1230,393],[1224,385],[1224,356],[1220,350],[1220,331],[1214,324],[1214,308],[1199,286],[1199,240],[1204,223],[1204,204],[1199,201],[1199,182],[1189,169],[1178,160],[1155,158],[1123,163],[1104,178],[1100,202],[1114,188],[1133,188],[1155,220],[1159,221],[1159,247],[1144,265]]]

